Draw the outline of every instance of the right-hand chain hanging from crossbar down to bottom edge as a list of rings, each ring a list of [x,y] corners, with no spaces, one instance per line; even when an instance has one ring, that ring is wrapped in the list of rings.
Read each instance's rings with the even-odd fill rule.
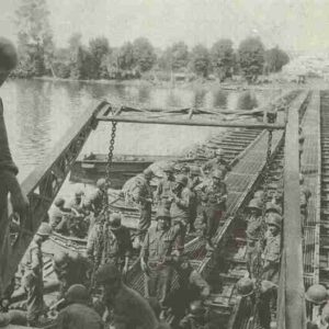
[[[258,305],[261,297],[261,283],[262,283],[262,274],[263,274],[263,261],[262,261],[262,249],[264,247],[265,242],[265,231],[266,231],[266,224],[265,224],[265,212],[266,212],[266,197],[269,193],[269,173],[270,173],[270,160],[272,155],[272,131],[269,131],[269,137],[268,137],[268,149],[266,149],[266,161],[265,161],[265,168],[263,171],[263,186],[264,186],[264,202],[262,207],[262,222],[261,222],[261,228],[260,228],[260,235],[258,240],[258,249],[257,249],[257,258],[256,258],[256,271],[254,271],[254,277],[256,277],[256,303],[254,303],[254,319],[256,319],[256,326],[257,329],[262,329],[262,327],[259,324],[259,314],[258,314]]]

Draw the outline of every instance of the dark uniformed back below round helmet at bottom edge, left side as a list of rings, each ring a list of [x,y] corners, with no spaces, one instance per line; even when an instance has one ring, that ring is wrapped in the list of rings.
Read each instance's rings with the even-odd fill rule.
[[[56,329],[103,329],[100,315],[83,304],[71,304],[61,309],[56,319]]]

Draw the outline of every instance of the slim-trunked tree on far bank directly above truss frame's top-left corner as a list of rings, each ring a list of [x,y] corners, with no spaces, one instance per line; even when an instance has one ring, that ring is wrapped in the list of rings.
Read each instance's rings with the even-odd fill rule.
[[[97,37],[89,42],[89,52],[91,55],[91,66],[93,67],[90,72],[90,78],[98,79],[103,72],[103,67],[101,68],[103,58],[110,53],[109,41],[105,37]]]

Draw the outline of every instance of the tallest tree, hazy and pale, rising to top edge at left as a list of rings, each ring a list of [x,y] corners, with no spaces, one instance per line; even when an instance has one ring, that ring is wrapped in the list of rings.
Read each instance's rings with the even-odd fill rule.
[[[19,69],[25,76],[50,72],[54,43],[46,0],[20,0],[15,14]]]

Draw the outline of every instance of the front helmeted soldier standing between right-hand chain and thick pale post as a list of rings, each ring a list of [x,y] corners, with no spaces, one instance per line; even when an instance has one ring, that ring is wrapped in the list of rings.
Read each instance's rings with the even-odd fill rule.
[[[281,258],[281,228],[282,217],[277,214],[270,214],[266,217],[268,231],[265,247],[262,253],[263,280],[279,282],[279,268]]]

